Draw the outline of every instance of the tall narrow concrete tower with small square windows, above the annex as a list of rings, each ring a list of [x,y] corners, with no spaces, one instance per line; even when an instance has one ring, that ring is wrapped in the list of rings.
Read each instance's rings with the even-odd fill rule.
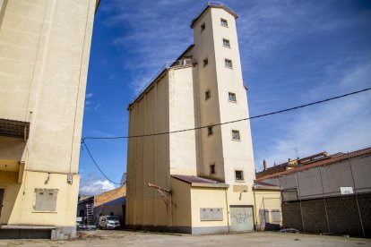
[[[209,5],[191,25],[199,94],[196,125],[211,126],[199,138],[199,173],[229,184],[252,185],[255,165],[249,122],[212,126],[248,117],[236,19],[225,5]]]

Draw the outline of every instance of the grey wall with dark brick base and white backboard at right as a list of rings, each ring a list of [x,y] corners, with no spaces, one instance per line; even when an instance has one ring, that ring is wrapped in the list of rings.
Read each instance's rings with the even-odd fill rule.
[[[371,156],[348,158],[278,177],[283,225],[304,232],[370,235],[370,166]]]

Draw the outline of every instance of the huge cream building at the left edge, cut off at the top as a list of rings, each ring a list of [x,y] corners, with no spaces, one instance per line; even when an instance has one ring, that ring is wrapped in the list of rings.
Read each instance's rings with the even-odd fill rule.
[[[96,2],[0,1],[0,231],[48,226],[54,238],[75,234]],[[20,123],[24,137],[6,131]]]

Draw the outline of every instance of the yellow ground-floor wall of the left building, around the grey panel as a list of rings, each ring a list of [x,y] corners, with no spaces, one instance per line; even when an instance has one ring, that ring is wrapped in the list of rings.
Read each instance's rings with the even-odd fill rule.
[[[67,175],[26,171],[21,184],[17,183],[18,173],[0,172],[0,188],[5,189],[1,224],[74,226],[79,179],[79,175],[73,175],[73,184],[69,184]],[[58,190],[55,212],[33,209],[35,189]]]

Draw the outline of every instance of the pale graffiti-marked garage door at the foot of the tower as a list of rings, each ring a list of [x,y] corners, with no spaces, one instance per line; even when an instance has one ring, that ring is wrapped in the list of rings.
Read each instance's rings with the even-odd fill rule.
[[[246,232],[254,230],[253,207],[230,206],[230,231]]]

